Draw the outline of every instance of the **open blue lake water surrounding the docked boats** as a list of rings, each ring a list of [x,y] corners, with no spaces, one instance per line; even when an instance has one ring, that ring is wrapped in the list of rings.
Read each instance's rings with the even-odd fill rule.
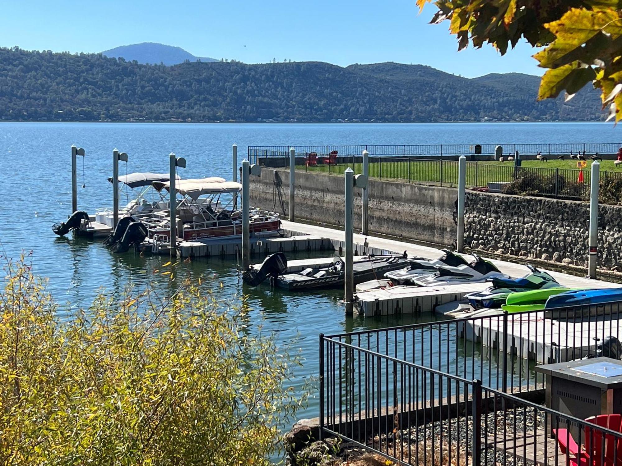
[[[114,147],[128,153],[121,175],[134,171],[167,172],[169,153],[185,157],[184,178],[231,178],[231,145],[238,144],[238,161],[248,145],[294,144],[497,144],[619,142],[620,130],[608,123],[499,124],[110,124],[110,123],[0,123],[0,168],[4,195],[0,196],[2,255],[17,258],[32,251],[37,273],[49,278],[49,290],[60,303],[84,306],[100,288],[122,291],[129,281],[150,281],[162,293],[167,277],[146,273],[167,257],[139,257],[134,252],[113,255],[98,242],[58,238],[50,227],[71,209],[72,144],[85,148],[78,157],[78,207],[93,213],[112,204]],[[128,193],[132,198],[131,191]],[[133,196],[135,197],[135,196]],[[122,196],[121,204],[126,201]],[[409,318],[346,318],[338,304],[340,291],[295,294],[242,288],[234,260],[194,260],[181,263],[177,276],[208,277],[223,282],[226,296],[248,293],[251,321],[260,322],[277,338],[289,342],[299,336],[305,364],[296,386],[318,373],[318,334],[408,324]],[[206,280],[204,280],[205,283]],[[209,286],[209,285],[207,285]],[[70,304],[66,304],[69,306]],[[67,309],[65,307],[65,309]],[[310,400],[301,417],[317,416],[317,399]]]

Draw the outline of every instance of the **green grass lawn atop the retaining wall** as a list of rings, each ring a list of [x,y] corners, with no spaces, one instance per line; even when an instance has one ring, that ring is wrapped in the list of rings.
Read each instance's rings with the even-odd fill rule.
[[[622,168],[615,168],[613,162],[613,160],[601,161],[600,170],[622,173]],[[588,160],[587,167],[583,169],[583,176],[586,183],[589,180],[591,164],[592,161]],[[317,165],[317,167],[299,166],[297,170],[342,175],[348,167],[352,168],[357,174],[363,171],[362,163]],[[568,180],[577,181],[578,178],[577,160],[575,159],[567,158],[566,160],[557,160],[557,158],[553,158],[547,162],[541,160],[524,160],[522,162],[522,167],[536,168],[538,169],[537,173],[543,177],[555,176],[555,169],[559,168],[559,175],[565,176]],[[455,185],[458,183],[458,162],[443,160],[441,164],[440,161],[435,160],[415,161],[411,159],[409,163],[406,159],[403,162],[369,163],[369,177],[381,180],[410,180]],[[466,163],[467,186],[487,186],[491,181],[511,181],[513,178],[514,162]]]

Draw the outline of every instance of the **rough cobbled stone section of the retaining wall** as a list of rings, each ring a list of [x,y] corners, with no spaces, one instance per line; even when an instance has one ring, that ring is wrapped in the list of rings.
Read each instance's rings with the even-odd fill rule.
[[[465,245],[499,255],[587,267],[590,206],[580,201],[468,192]],[[598,263],[622,263],[622,208],[599,208]]]

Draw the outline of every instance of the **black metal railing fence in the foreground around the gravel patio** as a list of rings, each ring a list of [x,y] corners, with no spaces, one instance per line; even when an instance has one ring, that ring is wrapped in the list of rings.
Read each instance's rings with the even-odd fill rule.
[[[585,443],[594,426],[524,400],[544,388],[534,367],[600,354],[605,337],[620,339],[621,311],[612,303],[320,336],[323,432],[406,464],[517,464],[517,455],[570,464],[552,429]]]

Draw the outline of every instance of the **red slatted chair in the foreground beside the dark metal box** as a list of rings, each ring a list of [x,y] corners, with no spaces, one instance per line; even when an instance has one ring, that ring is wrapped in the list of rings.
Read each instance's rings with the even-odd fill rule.
[[[621,414],[601,414],[592,418],[585,419],[588,423],[596,424],[599,427],[605,427],[614,432],[620,432],[622,426]],[[577,441],[570,435],[568,429],[553,430],[557,438],[557,444],[562,454],[568,452],[570,458],[568,464],[570,466],[613,466],[613,464],[622,465],[622,440],[611,434],[605,433],[605,441],[603,442],[603,431],[600,429],[592,429],[585,426],[585,448],[579,449]],[[603,450],[604,447],[604,450]],[[590,455],[591,454],[591,455]],[[618,457],[615,462],[615,457]],[[605,459],[603,463],[601,458]]]

